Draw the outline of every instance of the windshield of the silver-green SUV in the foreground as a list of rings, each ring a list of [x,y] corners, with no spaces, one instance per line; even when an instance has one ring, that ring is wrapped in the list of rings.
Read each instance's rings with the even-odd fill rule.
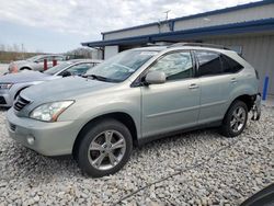
[[[158,52],[151,50],[127,50],[109,60],[93,67],[85,76],[102,81],[122,82],[139,69]]]

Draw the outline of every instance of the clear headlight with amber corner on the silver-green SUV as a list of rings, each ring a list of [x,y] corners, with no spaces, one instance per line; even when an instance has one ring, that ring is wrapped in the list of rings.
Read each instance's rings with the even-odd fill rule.
[[[73,102],[75,101],[61,101],[42,104],[31,112],[30,117],[44,122],[56,122],[59,115]]]

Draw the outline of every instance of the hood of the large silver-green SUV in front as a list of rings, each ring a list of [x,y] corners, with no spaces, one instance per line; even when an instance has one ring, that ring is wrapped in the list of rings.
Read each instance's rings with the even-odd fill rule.
[[[79,95],[99,92],[115,84],[76,76],[33,85],[23,90],[20,95],[32,101],[35,106],[46,102],[75,100]]]

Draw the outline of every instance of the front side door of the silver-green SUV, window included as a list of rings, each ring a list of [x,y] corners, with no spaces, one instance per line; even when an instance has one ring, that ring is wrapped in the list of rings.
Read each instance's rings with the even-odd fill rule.
[[[149,71],[163,71],[167,82],[141,87],[142,136],[195,126],[199,108],[199,80],[194,78],[189,50],[163,55]]]

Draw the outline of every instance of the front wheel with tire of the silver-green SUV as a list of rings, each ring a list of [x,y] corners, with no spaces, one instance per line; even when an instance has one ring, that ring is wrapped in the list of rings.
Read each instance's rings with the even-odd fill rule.
[[[76,151],[77,161],[79,168],[93,178],[113,174],[121,170],[133,150],[130,131],[115,119],[96,122],[80,138]],[[90,150],[91,146],[93,149]]]

